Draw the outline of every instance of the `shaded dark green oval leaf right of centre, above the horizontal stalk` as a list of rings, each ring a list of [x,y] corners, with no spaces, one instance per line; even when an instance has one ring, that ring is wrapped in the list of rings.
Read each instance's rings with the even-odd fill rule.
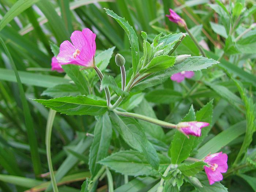
[[[173,89],[156,89],[149,91],[145,95],[145,98],[147,99],[147,101],[153,103],[170,104],[180,101],[182,99],[182,94],[178,91],[174,91]]]

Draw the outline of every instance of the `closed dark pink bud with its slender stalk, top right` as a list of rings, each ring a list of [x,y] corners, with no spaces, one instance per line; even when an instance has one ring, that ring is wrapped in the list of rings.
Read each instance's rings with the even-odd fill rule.
[[[173,23],[177,23],[178,26],[183,27],[187,33],[189,34],[189,36],[191,37],[191,39],[195,42],[197,48],[200,50],[200,52],[202,53],[202,55],[205,57],[204,51],[203,49],[200,47],[199,43],[196,41],[195,37],[192,35],[192,33],[189,31],[188,27],[187,27],[187,23],[185,22],[184,19],[182,19],[180,17],[180,15],[178,15],[175,11],[173,11],[172,9],[169,9],[170,15],[166,15],[167,18],[169,18],[169,20]]]

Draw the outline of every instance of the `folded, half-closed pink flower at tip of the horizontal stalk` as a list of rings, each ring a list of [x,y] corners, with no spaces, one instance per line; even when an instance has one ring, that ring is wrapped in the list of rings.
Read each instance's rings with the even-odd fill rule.
[[[201,129],[203,127],[207,127],[209,123],[206,122],[197,122],[197,121],[189,121],[189,122],[181,122],[178,123],[177,129],[187,135],[194,135],[197,137],[201,136]]]

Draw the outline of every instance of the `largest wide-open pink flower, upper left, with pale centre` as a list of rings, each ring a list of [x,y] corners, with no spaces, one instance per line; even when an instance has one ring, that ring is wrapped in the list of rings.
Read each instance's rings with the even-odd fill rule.
[[[88,28],[83,31],[74,31],[71,34],[71,42],[64,41],[60,45],[60,53],[57,60],[61,65],[76,64],[84,67],[93,67],[95,56],[96,35]]]

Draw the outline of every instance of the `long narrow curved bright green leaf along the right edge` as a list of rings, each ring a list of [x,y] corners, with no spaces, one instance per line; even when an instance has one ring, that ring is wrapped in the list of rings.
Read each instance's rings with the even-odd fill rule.
[[[253,138],[253,133],[256,131],[256,124],[255,124],[255,104],[253,104],[253,99],[252,97],[247,97],[246,95],[246,90],[244,89],[244,86],[242,83],[234,78],[231,78],[236,86],[237,89],[240,93],[240,96],[245,104],[245,117],[246,117],[246,132],[245,132],[245,137],[244,141],[242,143],[242,146],[240,148],[240,151],[236,157],[235,163],[240,160],[241,155],[246,153],[247,148],[252,142]]]

